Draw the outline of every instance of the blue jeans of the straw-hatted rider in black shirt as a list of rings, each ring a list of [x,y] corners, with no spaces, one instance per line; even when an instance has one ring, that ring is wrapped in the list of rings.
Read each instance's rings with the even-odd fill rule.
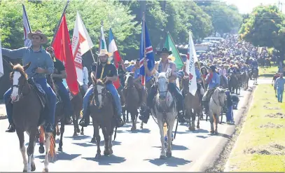
[[[88,88],[88,90],[86,91],[84,97],[83,97],[83,118],[87,118],[88,117],[88,104],[89,104],[89,98],[90,95],[92,95],[93,92],[93,85],[90,85],[90,88]],[[111,95],[113,96],[114,102],[116,104],[116,108],[117,108],[117,115],[121,116],[122,115],[122,105],[120,104],[120,96],[118,94],[118,91],[116,90],[115,86],[113,85],[113,83],[109,83],[106,85],[106,89],[109,90],[109,92],[111,92]]]

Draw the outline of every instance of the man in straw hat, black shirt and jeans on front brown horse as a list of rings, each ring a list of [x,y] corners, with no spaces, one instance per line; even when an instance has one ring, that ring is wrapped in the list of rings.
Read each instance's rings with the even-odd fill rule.
[[[92,80],[96,80],[98,78],[102,79],[103,81],[106,80],[106,89],[111,92],[111,95],[113,96],[113,100],[116,104],[116,126],[122,127],[124,125],[122,120],[122,105],[120,103],[120,96],[118,95],[118,91],[116,90],[115,86],[113,85],[113,82],[118,80],[118,72],[114,64],[111,64],[111,62],[108,61],[108,57],[111,56],[111,53],[108,53],[106,49],[100,50],[99,56],[99,64],[93,63],[92,64],[92,71],[91,71],[91,78]],[[97,68],[98,67],[98,68]],[[97,74],[96,74],[97,69]],[[95,82],[95,81],[93,81]],[[90,116],[88,115],[88,104],[90,101],[90,96],[93,93],[93,85],[90,85],[90,88],[85,93],[85,96],[83,97],[83,118],[80,121],[80,125],[83,127],[87,127],[90,123]]]

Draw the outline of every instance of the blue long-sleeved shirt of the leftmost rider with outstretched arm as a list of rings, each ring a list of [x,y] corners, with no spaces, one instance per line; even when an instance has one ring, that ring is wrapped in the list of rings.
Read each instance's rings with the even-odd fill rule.
[[[53,72],[55,71],[53,60],[50,57],[50,54],[46,50],[44,50],[42,46],[40,50],[36,52],[31,47],[24,47],[15,50],[1,48],[1,50],[3,55],[10,57],[11,59],[22,58],[23,65],[26,65],[31,62],[29,69],[25,71],[29,77],[34,75],[32,70],[37,67],[47,69],[47,74],[53,74]],[[46,78],[46,74],[38,74],[35,77]]]

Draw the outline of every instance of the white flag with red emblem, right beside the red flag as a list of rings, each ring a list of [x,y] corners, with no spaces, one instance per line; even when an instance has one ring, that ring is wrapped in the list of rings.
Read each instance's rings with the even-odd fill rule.
[[[77,81],[80,85],[83,85],[83,64],[82,55],[94,45],[90,39],[90,36],[81,20],[79,13],[77,12],[74,35],[72,36],[72,55],[74,57],[74,64],[76,67]]]

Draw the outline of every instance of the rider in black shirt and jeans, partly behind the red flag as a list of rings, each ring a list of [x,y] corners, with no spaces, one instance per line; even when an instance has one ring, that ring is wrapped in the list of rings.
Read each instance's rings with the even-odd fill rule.
[[[53,63],[55,64],[55,72],[52,74],[53,81],[55,82],[55,85],[57,85],[57,91],[60,95],[60,98],[62,99],[63,108],[64,108],[64,116],[67,122],[70,122],[70,117],[74,113],[71,106],[71,101],[69,99],[69,92],[67,91],[67,88],[63,85],[63,78],[67,78],[67,72],[65,71],[64,64],[62,61],[58,60],[55,57],[55,50],[53,47],[46,48],[46,51],[50,53],[50,56],[52,57]]]

